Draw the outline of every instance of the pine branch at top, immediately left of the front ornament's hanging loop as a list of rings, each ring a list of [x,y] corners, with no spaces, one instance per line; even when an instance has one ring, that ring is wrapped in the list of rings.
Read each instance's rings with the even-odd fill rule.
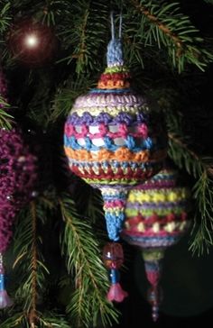
[[[75,18],[71,18],[68,28],[60,33],[65,49],[70,49],[66,60],[74,62],[77,74],[100,70],[100,54],[106,50],[106,23],[108,10],[105,1],[78,0],[72,8]],[[73,23],[73,20],[75,22]],[[71,37],[70,37],[71,36]]]

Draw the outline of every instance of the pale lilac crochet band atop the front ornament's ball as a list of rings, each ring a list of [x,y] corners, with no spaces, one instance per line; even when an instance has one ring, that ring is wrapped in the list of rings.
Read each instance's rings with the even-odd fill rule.
[[[89,93],[88,95],[79,96],[73,106],[74,109],[87,107],[106,107],[107,106],[143,106],[147,105],[143,96],[124,93],[115,95],[114,93]]]

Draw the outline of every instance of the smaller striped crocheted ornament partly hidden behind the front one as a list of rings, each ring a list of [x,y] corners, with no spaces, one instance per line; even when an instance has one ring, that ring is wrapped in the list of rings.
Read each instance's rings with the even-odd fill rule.
[[[153,307],[153,321],[158,318],[162,301],[158,286],[164,251],[181,239],[190,220],[190,191],[178,187],[178,174],[162,169],[144,185],[133,188],[125,208],[125,228],[121,233],[128,243],[143,250],[146,277],[152,285],[148,300]]]

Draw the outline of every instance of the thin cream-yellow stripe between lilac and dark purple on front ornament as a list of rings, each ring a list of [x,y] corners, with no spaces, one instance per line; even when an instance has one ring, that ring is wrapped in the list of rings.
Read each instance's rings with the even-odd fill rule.
[[[78,114],[79,116],[82,116],[85,113],[89,113],[93,116],[98,116],[100,113],[110,113],[110,116],[116,117],[117,114],[120,114],[122,112],[124,112],[125,114],[131,114],[131,115],[135,115],[135,114],[140,114],[140,113],[144,113],[144,114],[148,114],[150,112],[150,108],[148,107],[148,105],[143,105],[143,106],[128,106],[128,105],[121,105],[121,106],[117,106],[117,107],[111,107],[110,105],[106,106],[100,106],[100,107],[83,107],[83,108],[75,108],[75,106],[72,108],[71,110],[71,114]]]

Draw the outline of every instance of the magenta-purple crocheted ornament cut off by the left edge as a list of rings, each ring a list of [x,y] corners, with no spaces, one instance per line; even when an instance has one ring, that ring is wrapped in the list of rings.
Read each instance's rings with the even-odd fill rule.
[[[0,92],[1,86],[0,83]],[[5,290],[3,253],[13,235],[15,215],[32,197],[37,178],[36,161],[24,144],[21,132],[0,129],[0,308],[13,303]]]

